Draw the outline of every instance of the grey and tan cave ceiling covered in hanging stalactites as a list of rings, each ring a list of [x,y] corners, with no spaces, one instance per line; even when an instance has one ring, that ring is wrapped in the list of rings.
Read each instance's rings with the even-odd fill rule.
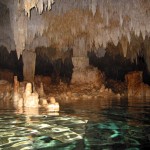
[[[101,51],[121,44],[124,57],[142,53],[150,70],[149,0],[0,0],[0,35],[18,58],[41,46]]]

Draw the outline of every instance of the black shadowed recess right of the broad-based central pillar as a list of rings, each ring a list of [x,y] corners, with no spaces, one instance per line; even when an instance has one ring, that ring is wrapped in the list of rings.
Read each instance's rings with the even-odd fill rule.
[[[140,44],[140,50],[143,49],[143,45]],[[112,52],[116,50],[118,53]],[[142,50],[141,50],[142,51]],[[123,57],[121,54],[121,45],[115,46],[113,43],[109,43],[105,49],[104,55],[99,55],[95,51],[88,52],[90,65],[98,67],[99,70],[104,72],[106,79],[113,79],[117,81],[125,81],[125,75],[131,71],[142,71],[143,81],[150,84],[150,74],[147,69],[147,64],[144,58],[144,54],[140,54],[136,60],[131,61],[129,58]]]

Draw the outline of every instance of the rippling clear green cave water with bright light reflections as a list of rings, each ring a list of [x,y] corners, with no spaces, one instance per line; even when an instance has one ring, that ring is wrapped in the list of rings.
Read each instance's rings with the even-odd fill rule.
[[[0,150],[150,148],[150,100],[80,100],[59,113],[17,109],[0,100]]]

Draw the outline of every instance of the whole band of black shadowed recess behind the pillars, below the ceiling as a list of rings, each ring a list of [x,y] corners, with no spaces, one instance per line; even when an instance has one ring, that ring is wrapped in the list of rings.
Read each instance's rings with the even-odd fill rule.
[[[97,57],[94,51],[88,52],[90,65],[97,67],[104,72],[106,79],[124,81],[124,77],[131,71],[143,71],[143,81],[150,85],[150,75],[143,56],[139,56],[137,62],[131,63],[129,59],[117,54],[112,57],[109,51],[106,51],[104,57]],[[18,60],[16,51],[10,53],[3,46],[0,47],[0,70],[9,70],[23,80],[23,62],[22,57]],[[73,64],[70,57],[65,59],[45,59],[37,53],[35,75],[50,76],[53,83],[70,82],[73,72]]]

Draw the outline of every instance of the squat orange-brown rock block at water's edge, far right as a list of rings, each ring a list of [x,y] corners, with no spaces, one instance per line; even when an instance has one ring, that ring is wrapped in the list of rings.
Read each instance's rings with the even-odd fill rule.
[[[128,97],[150,97],[150,86],[143,83],[141,71],[130,72],[126,75]]]

